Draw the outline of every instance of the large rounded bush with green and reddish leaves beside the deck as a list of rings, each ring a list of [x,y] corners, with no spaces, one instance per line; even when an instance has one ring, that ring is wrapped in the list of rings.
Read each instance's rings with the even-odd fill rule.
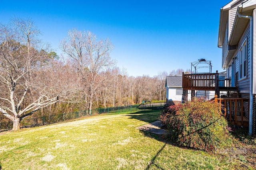
[[[219,105],[210,101],[194,99],[170,106],[159,119],[171,133],[168,139],[181,146],[210,151],[232,143]]]

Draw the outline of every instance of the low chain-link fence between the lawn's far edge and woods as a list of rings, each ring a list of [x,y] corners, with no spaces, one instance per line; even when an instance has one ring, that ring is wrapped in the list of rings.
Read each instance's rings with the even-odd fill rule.
[[[87,117],[91,115],[119,114],[121,112],[138,111],[137,107],[138,105],[107,107],[107,108],[92,109],[91,114],[89,110],[86,110],[86,111],[78,111],[78,112],[72,112],[72,113],[63,113],[58,115],[49,115],[49,116],[36,117],[36,118],[30,118],[30,119],[23,119],[20,122],[20,128],[49,125],[52,123],[78,119],[80,117]],[[0,130],[5,130],[5,129],[12,129],[12,122],[0,122]]]

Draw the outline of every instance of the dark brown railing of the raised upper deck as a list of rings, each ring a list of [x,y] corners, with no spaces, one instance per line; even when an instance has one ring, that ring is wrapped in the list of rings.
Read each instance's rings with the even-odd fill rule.
[[[184,90],[215,91],[218,86],[218,73],[182,74],[182,88]]]

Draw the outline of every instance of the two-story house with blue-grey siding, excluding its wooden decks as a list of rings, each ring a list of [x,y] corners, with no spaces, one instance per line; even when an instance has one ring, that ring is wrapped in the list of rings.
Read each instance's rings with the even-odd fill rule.
[[[238,88],[241,99],[247,99],[243,100],[242,112],[245,110],[249,120],[249,134],[256,133],[255,41],[256,0],[232,0],[223,6],[220,9],[218,34],[218,47],[222,48],[222,68],[226,69],[230,86]]]

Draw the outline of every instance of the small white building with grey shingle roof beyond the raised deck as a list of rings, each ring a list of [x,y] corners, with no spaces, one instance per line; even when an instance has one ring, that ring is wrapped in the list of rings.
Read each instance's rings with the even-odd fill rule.
[[[182,89],[182,76],[166,77],[166,105],[176,105],[182,103],[184,98]]]

